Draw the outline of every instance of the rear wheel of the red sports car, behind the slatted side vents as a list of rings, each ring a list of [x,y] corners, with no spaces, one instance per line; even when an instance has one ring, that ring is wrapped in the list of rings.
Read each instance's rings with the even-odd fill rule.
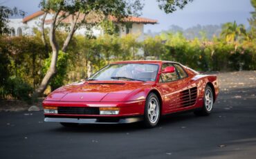
[[[214,95],[212,88],[209,85],[205,86],[205,93],[203,96],[203,107],[200,110],[194,111],[195,115],[206,116],[210,115],[214,103]]]

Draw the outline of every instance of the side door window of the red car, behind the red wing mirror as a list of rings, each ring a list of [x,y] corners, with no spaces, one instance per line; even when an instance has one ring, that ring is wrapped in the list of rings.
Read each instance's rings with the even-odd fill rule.
[[[164,70],[167,66],[173,66],[173,64],[163,64],[161,70]],[[179,79],[179,75],[175,71],[174,73],[161,73],[159,82],[160,83],[166,83],[166,82],[172,82]]]

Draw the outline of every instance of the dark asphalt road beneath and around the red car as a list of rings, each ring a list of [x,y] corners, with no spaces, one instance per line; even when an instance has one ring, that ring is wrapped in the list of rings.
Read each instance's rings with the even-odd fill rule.
[[[67,129],[43,122],[42,111],[1,112],[0,158],[256,158],[256,86],[237,84],[221,86],[210,116],[171,115],[154,129]]]

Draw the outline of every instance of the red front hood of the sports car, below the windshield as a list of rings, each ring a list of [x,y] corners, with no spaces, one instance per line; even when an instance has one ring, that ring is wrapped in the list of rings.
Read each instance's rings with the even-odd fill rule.
[[[80,82],[62,86],[45,100],[62,102],[116,102],[125,101],[138,89],[149,86],[149,82]]]

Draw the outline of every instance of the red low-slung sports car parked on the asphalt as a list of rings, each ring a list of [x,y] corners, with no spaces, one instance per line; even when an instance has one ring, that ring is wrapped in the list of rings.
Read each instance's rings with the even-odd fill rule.
[[[219,93],[216,75],[200,75],[177,62],[113,62],[84,82],[53,91],[43,102],[45,122],[155,127],[163,115],[209,115]]]

